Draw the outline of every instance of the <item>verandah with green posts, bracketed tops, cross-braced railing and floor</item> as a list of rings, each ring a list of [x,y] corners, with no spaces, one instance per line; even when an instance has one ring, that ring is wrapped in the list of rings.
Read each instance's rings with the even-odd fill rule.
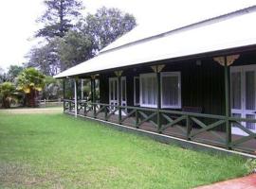
[[[255,153],[255,133],[247,129],[243,123],[256,123],[255,119],[239,118],[231,116],[230,112],[230,77],[229,65],[238,56],[218,57],[214,60],[224,66],[225,80],[225,115],[213,115],[198,112],[179,112],[161,109],[160,95],[160,71],[162,65],[155,65],[153,69],[156,75],[157,106],[155,109],[144,107],[123,106],[121,103],[121,77],[122,72],[117,71],[118,77],[118,104],[106,104],[96,102],[95,79],[91,77],[91,101],[78,100],[78,82],[74,82],[74,99],[64,99],[64,112],[72,112],[76,116],[83,115],[114,122],[138,129],[151,130],[166,135],[177,136],[188,141],[199,141],[212,146],[221,146],[228,149],[242,150],[247,153]],[[126,112],[126,113],[122,113]],[[206,122],[205,120],[208,120]],[[210,120],[210,121],[209,121]],[[217,131],[218,127],[225,131]],[[242,129],[247,136],[239,136],[231,133],[231,127]]]

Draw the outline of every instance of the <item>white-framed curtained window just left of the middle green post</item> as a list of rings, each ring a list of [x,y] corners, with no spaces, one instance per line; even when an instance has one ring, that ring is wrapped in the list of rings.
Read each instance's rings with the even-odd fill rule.
[[[157,85],[156,75],[141,74],[140,76],[140,106],[156,108],[157,106]]]

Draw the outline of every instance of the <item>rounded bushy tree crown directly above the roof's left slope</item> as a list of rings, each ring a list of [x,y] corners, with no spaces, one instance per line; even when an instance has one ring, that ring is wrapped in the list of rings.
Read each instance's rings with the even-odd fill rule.
[[[132,14],[102,7],[96,14],[88,14],[77,27],[84,35],[90,35],[93,39],[94,51],[97,53],[135,26],[137,23]]]

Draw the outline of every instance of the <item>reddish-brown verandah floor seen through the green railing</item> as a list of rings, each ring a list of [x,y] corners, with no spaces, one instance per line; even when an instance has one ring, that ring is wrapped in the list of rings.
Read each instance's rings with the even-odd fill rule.
[[[79,112],[80,114],[84,115],[82,111]],[[94,117],[93,112],[87,112],[86,116],[88,117]],[[125,115],[122,115],[121,118],[124,118]],[[104,113],[100,112],[97,117],[97,119],[104,120]],[[118,114],[112,114],[108,118],[109,122],[117,123],[119,124],[119,116]],[[125,119],[122,123],[125,126],[135,128],[135,117],[131,116]],[[150,121],[144,122],[139,126],[139,129],[152,131],[152,132],[158,132],[155,128],[154,124],[152,124]],[[200,128],[192,127],[192,133],[198,131]],[[174,127],[169,127],[167,129],[164,129],[161,133],[168,136],[174,136],[181,139],[186,139],[186,133],[184,132],[186,130],[186,127],[183,125],[174,125]],[[238,139],[241,139],[244,136],[232,134],[232,141],[236,141]],[[207,145],[212,146],[220,146],[225,147],[226,146],[226,132],[225,131],[217,131],[214,129],[204,131],[192,138],[192,141],[199,142]],[[249,152],[253,155],[256,154],[256,140],[251,139],[245,143],[242,143],[238,146],[233,146],[232,149],[242,151],[242,152]]]

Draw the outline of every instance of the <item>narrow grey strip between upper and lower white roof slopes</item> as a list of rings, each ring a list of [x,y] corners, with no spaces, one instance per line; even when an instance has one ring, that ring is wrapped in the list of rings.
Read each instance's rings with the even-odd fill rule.
[[[231,11],[231,12],[228,12],[226,14],[221,14],[219,16],[211,17],[209,19],[205,19],[205,20],[202,20],[202,21],[199,21],[199,22],[196,22],[196,23],[192,23],[191,25],[176,27],[172,30],[161,32],[161,33],[158,33],[158,34],[150,36],[150,37],[142,38],[140,40],[137,40],[137,41],[134,41],[134,42],[131,42],[131,43],[124,43],[124,44],[119,45],[117,47],[110,48],[110,49],[107,49],[105,51],[101,51],[99,55],[110,52],[110,51],[113,51],[113,50],[117,50],[117,49],[122,48],[124,46],[130,46],[130,45],[134,45],[136,43],[143,43],[143,42],[148,41],[148,40],[153,40],[155,38],[165,37],[167,35],[173,34],[175,32],[179,32],[181,30],[192,29],[194,27],[202,26],[202,25],[205,25],[205,24],[210,25],[210,24],[213,24],[213,23],[216,23],[216,22],[222,22],[222,21],[227,20],[229,18],[236,17],[238,15],[244,15],[244,14],[247,14],[248,12],[255,11],[255,10],[256,10],[256,5],[247,7],[245,9],[238,9],[238,10],[235,10],[235,11]]]

